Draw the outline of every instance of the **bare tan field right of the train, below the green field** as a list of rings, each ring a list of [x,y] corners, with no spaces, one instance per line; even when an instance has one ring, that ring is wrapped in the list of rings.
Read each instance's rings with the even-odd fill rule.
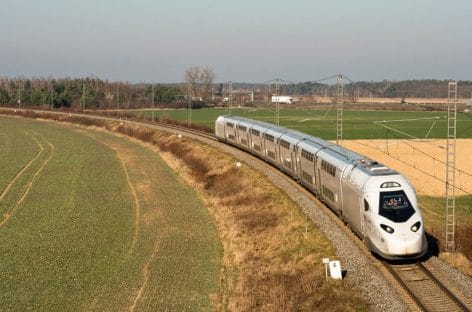
[[[420,195],[445,194],[446,140],[352,140],[343,141],[343,146],[402,173]],[[472,139],[457,140],[456,186],[468,193],[472,193],[470,155]]]

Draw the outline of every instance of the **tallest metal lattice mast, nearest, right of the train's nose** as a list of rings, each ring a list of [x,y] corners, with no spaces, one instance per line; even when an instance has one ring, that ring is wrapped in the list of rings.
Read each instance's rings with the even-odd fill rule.
[[[457,81],[450,81],[446,143],[446,251],[455,251]]]

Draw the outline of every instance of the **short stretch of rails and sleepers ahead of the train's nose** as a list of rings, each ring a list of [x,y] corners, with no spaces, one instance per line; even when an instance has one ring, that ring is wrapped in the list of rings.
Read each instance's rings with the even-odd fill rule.
[[[412,299],[411,310],[471,311],[471,302],[464,302],[470,300],[459,299],[423,263],[382,264]]]

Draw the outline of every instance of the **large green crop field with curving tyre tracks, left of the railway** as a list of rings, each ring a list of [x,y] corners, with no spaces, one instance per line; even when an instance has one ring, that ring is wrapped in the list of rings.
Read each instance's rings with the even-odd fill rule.
[[[0,117],[0,310],[209,310],[212,218],[153,151]]]

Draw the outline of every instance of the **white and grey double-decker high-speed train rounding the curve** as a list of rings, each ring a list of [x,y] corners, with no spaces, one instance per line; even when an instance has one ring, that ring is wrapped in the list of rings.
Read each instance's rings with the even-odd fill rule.
[[[390,260],[425,254],[428,245],[416,193],[398,172],[320,138],[237,116],[219,116],[215,134],[303,184],[373,253]]]

